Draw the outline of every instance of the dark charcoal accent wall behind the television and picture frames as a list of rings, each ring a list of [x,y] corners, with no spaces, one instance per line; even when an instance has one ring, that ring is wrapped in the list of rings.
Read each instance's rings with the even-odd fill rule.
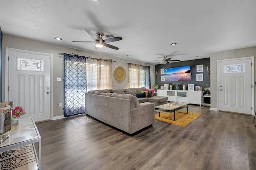
[[[204,72],[196,72],[196,65],[204,64]],[[190,65],[191,80],[190,81],[178,81],[178,82],[161,82],[161,68],[171,68],[179,66],[188,66]],[[172,84],[172,89],[176,89],[176,85],[180,84],[180,89],[182,86],[186,85],[186,90],[188,89],[188,84],[192,83],[195,86],[201,86],[202,90],[206,87],[206,84],[210,85],[210,74],[207,74],[207,66],[210,68],[210,58],[198,59],[198,60],[189,60],[189,61],[180,61],[167,64],[158,64],[155,65],[155,84],[159,83],[159,86],[163,86],[164,83]],[[156,71],[158,71],[158,77],[156,77]],[[196,81],[196,74],[203,73],[203,81]]]

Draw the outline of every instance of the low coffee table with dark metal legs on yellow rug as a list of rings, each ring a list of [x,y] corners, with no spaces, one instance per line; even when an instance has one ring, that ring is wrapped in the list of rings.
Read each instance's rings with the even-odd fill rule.
[[[185,102],[177,102],[177,103],[168,103],[168,104],[162,104],[159,106],[155,106],[155,108],[158,108],[158,110],[155,110],[158,112],[158,116],[160,117],[160,112],[162,113],[173,113],[174,114],[174,121],[175,121],[175,111],[187,108],[187,114],[188,114],[188,104]]]

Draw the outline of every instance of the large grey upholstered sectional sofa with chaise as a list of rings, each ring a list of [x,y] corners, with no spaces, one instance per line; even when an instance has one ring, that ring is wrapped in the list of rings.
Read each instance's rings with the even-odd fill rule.
[[[137,98],[146,88],[92,90],[85,94],[85,113],[126,133],[133,134],[154,123],[155,106],[167,97]]]

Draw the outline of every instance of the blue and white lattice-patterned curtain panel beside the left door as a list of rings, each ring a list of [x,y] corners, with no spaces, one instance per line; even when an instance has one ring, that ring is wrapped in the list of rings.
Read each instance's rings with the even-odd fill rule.
[[[64,54],[64,116],[85,113],[86,57]]]

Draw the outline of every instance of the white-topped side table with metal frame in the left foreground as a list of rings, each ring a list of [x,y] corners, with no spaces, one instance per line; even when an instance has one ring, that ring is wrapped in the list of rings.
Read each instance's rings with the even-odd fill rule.
[[[41,136],[32,117],[18,119],[19,128],[9,133],[10,142],[0,145],[0,152],[33,145],[36,166],[41,169]],[[38,142],[38,155],[34,143]]]

